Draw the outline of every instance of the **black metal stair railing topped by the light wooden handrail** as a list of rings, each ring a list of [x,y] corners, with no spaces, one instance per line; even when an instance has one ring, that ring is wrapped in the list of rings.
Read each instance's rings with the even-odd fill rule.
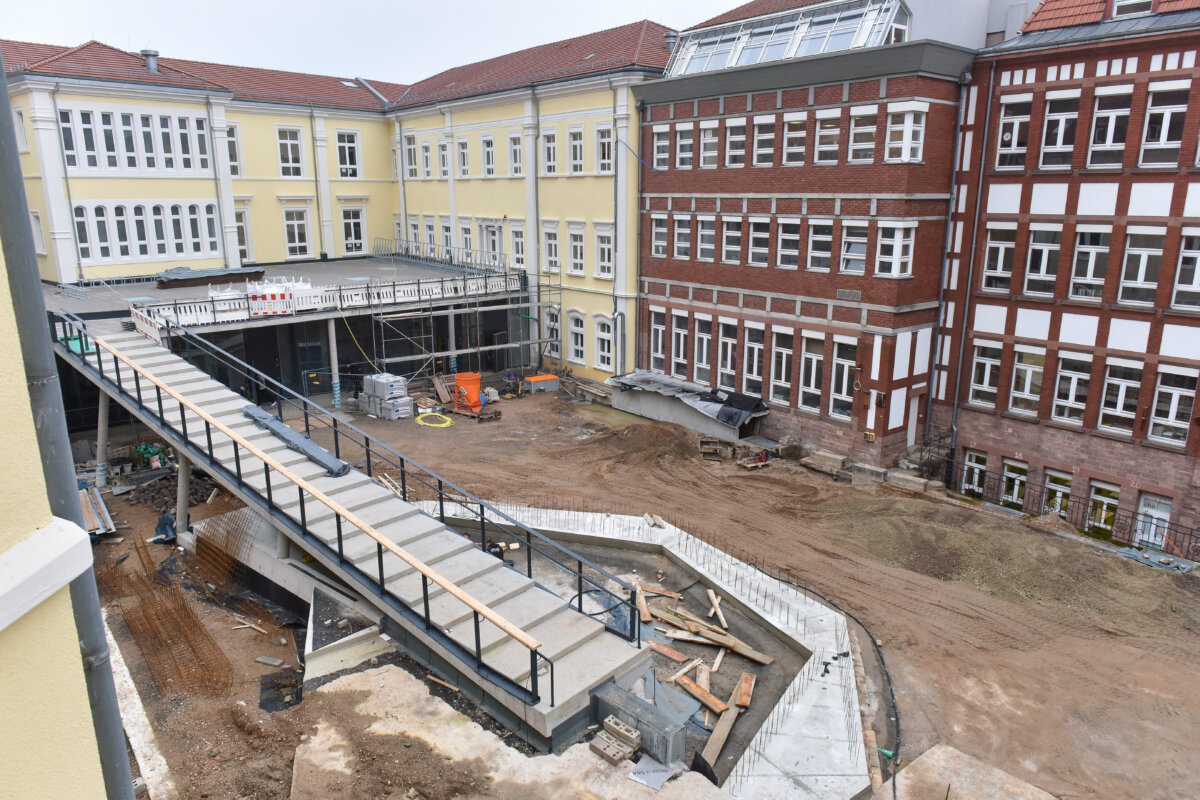
[[[68,313],[52,314],[50,329],[55,350],[61,357],[68,362],[73,362],[85,374],[90,373],[103,391],[112,393],[119,402],[142,417],[143,421],[156,425],[158,432],[173,447],[180,452],[186,452],[188,458],[202,464],[214,477],[238,487],[242,493],[260,503],[274,519],[286,525],[305,541],[307,547],[335,561],[338,569],[348,577],[359,583],[364,589],[378,595],[398,615],[424,627],[431,638],[436,639],[466,663],[474,663],[475,670],[485,679],[521,698],[523,702],[536,705],[541,700],[539,693],[540,664],[542,662],[546,663],[550,670],[550,704],[551,706],[554,705],[554,662],[530,644],[536,643],[535,639],[523,631],[518,631],[521,636],[504,631],[504,627],[498,622],[510,624],[505,622],[494,612],[490,612],[486,607],[482,607],[478,601],[473,601],[484,608],[482,614],[485,616],[488,614],[496,616],[496,619],[490,619],[488,621],[492,621],[497,628],[529,649],[528,686],[526,686],[521,681],[498,672],[486,663],[482,651],[482,639],[480,637],[480,608],[475,608],[470,602],[458,597],[460,602],[463,602],[472,610],[474,630],[473,646],[454,639],[449,632],[443,631],[433,622],[430,607],[430,584],[438,583],[443,589],[446,589],[449,584],[444,583],[444,578],[433,578],[431,577],[432,571],[428,571],[428,567],[420,570],[409,561],[409,565],[414,566],[414,570],[421,576],[421,601],[419,608],[414,607],[413,603],[403,600],[389,585],[389,578],[384,570],[384,554],[385,551],[391,552],[391,548],[384,546],[384,537],[378,531],[356,521],[353,512],[342,509],[335,500],[331,500],[319,489],[308,485],[307,481],[298,482],[295,476],[290,475],[281,464],[272,464],[274,459],[270,456],[260,451],[256,452],[257,449],[239,441],[232,431],[222,429],[224,427],[222,423],[214,425],[214,420],[203,414],[199,408],[176,396],[173,391],[164,390],[160,381],[150,377],[149,372],[144,373],[142,368],[133,367],[115,353],[106,349],[104,345],[96,341],[96,337],[88,330],[86,323],[80,318]],[[179,414],[178,420],[174,419],[176,411]],[[202,428],[203,434],[200,433]],[[341,435],[344,437],[346,432],[342,432]],[[224,437],[224,441],[221,440],[222,437]],[[370,445],[371,443],[368,441],[368,463],[370,453],[372,452]],[[376,445],[379,446],[378,443]],[[232,469],[226,465],[230,458],[233,461]],[[253,464],[256,458],[262,465],[260,473],[258,467]],[[412,465],[412,462],[409,464]],[[420,469],[424,470],[424,468]],[[428,475],[433,474],[428,473]],[[283,480],[277,480],[280,477]],[[414,477],[412,469],[409,469],[407,475],[402,473],[402,477],[404,480]],[[425,482],[425,479],[421,476],[418,476],[415,480]],[[442,482],[442,479],[438,479],[438,481]],[[294,507],[292,503],[281,498],[281,495],[286,497],[283,493],[289,492],[292,487],[296,491]],[[311,511],[313,501],[318,505],[318,512],[320,506],[324,506],[330,512],[328,515],[322,513],[319,519],[322,523],[332,521],[335,543],[326,542],[311,529],[311,523],[316,519]],[[374,559],[360,559],[355,563],[346,557],[344,542],[347,534],[343,529],[347,525],[358,528],[376,540]],[[632,602],[632,599],[630,599],[630,603]]]

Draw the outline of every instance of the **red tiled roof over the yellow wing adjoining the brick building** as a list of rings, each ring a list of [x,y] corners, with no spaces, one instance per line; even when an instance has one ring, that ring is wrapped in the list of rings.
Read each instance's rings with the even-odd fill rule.
[[[395,107],[418,106],[632,66],[661,72],[671,58],[662,38],[670,30],[642,20],[532,47],[446,70],[413,84],[392,100]]]

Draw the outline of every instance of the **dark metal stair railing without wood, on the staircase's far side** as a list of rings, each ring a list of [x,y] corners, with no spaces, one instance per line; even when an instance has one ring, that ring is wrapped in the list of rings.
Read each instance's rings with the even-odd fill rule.
[[[523,563],[521,566],[529,579],[564,596],[580,612],[592,615],[617,636],[641,644],[635,590],[630,584],[187,329],[168,321],[163,329],[163,342],[173,353],[205,373],[214,377],[221,374],[226,380],[233,378],[251,402],[263,404],[274,401],[277,419],[290,417],[302,422],[306,437],[314,438],[338,458],[361,465],[368,477],[392,479],[404,501],[434,501],[437,513],[433,516],[463,533],[469,531],[476,537],[479,547],[486,547],[488,539],[502,545],[520,543],[523,553],[512,551],[510,555],[514,566]],[[568,587],[571,588],[569,594],[564,591]],[[584,600],[592,601],[590,608]]]

